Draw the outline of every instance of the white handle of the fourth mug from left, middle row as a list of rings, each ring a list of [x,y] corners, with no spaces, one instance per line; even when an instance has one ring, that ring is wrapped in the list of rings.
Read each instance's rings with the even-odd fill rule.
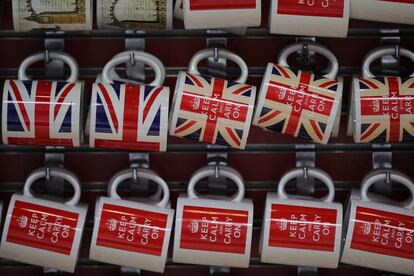
[[[289,67],[289,64],[287,63],[287,58],[293,53],[302,51],[303,46],[305,44],[308,45],[309,51],[323,55],[329,60],[329,63],[330,63],[328,67],[329,72],[325,74],[324,77],[328,79],[336,79],[336,76],[338,75],[338,71],[339,71],[338,59],[328,48],[318,43],[297,42],[297,43],[288,45],[287,47],[282,49],[282,51],[280,52],[279,57],[277,59],[278,64],[285,66],[285,67]]]

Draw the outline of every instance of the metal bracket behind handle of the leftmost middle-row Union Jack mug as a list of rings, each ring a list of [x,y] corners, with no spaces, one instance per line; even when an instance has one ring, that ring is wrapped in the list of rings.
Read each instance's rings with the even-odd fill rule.
[[[63,79],[65,64],[61,60],[49,60],[49,51],[63,51],[65,49],[64,31],[45,32],[45,76],[48,79]]]

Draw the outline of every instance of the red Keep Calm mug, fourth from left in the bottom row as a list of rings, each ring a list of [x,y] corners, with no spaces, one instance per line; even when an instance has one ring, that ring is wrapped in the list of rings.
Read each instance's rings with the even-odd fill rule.
[[[304,168],[286,173],[278,192],[268,193],[264,211],[261,261],[264,263],[337,268],[341,250],[342,204],[333,202],[335,186],[324,171],[308,174],[328,187],[324,198],[288,195],[286,184]]]

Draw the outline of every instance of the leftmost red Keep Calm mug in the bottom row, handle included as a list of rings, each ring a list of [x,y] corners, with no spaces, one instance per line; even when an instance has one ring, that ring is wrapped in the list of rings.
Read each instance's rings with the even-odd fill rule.
[[[73,197],[65,203],[34,197],[33,183],[49,176],[70,183]],[[80,196],[79,179],[71,172],[61,168],[32,172],[26,179],[23,195],[14,194],[10,200],[0,256],[73,273],[87,212],[86,206],[78,205]]]

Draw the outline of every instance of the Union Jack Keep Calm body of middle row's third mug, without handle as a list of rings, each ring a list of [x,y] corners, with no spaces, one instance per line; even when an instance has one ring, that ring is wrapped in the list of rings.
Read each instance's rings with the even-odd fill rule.
[[[243,149],[256,88],[219,78],[181,73],[170,134]]]

